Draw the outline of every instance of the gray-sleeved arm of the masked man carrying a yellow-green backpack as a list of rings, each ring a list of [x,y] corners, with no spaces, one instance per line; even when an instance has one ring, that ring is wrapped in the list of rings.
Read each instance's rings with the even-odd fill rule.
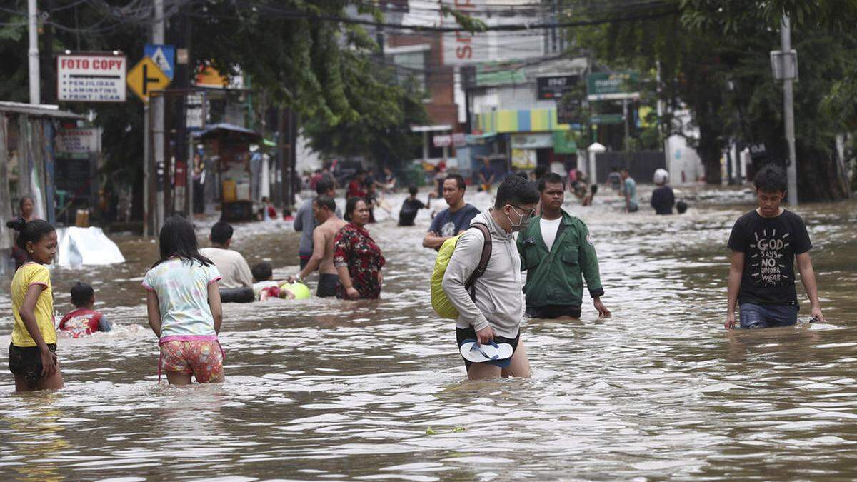
[[[482,257],[482,246],[485,244],[485,239],[482,237],[482,232],[473,230],[464,233],[461,238],[458,238],[458,243],[455,245],[455,251],[452,252],[452,257],[449,264],[446,266],[446,274],[443,275],[443,291],[446,292],[446,297],[458,310],[458,315],[473,326],[477,333],[480,342],[490,340],[494,337],[494,332],[488,325],[488,319],[482,314],[482,310],[476,306],[473,299],[470,298],[470,293],[464,287],[470,275],[476,271],[479,265],[479,260]],[[488,332],[488,330],[491,330]]]

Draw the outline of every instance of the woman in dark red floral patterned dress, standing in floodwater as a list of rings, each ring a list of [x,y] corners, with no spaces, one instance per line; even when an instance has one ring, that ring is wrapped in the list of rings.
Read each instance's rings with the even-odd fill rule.
[[[339,272],[337,298],[375,299],[381,295],[381,268],[384,256],[365,226],[369,204],[363,197],[351,197],[345,204],[349,223],[333,238],[333,264]]]

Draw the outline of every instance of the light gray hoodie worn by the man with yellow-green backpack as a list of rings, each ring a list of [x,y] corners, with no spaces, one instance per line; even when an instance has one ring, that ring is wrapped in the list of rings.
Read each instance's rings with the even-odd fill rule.
[[[518,336],[520,322],[524,316],[523,283],[521,281],[521,257],[515,246],[514,232],[505,232],[491,217],[490,210],[477,214],[473,223],[488,226],[491,232],[491,259],[485,273],[476,280],[476,302],[464,289],[464,283],[476,270],[482,257],[485,238],[477,229],[468,229],[461,238],[446,267],[443,276],[443,291],[458,310],[458,328],[476,331],[491,326],[494,333],[505,338]]]

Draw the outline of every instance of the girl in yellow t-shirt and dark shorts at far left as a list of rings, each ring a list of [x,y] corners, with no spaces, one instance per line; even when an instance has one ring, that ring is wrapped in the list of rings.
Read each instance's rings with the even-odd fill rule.
[[[45,266],[57,255],[57,232],[43,220],[9,221],[18,232],[18,248],[27,260],[12,279],[12,343],[9,371],[15,375],[15,391],[62,389],[63,374],[57,364],[57,330],[53,319],[51,272]]]

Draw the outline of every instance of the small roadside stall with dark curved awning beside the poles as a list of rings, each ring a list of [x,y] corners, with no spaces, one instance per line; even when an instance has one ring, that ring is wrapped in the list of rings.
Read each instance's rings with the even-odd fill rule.
[[[261,142],[261,135],[234,124],[213,124],[197,136],[203,143],[206,156],[214,161],[223,219],[252,220],[250,144]]]

